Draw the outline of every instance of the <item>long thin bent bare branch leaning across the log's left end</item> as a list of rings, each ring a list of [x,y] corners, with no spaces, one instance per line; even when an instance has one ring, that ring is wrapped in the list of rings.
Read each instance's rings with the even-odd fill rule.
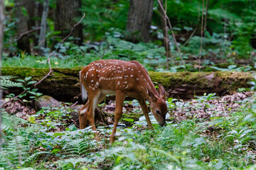
[[[47,62],[49,63],[49,72],[48,72],[48,74],[46,74],[46,76],[43,77],[43,79],[41,79],[40,81],[38,81],[36,84],[33,84],[31,87],[34,86],[34,87],[36,88],[36,86],[37,86],[38,84],[40,84],[44,79],[46,79],[46,78],[53,72],[53,70],[51,69],[51,66],[50,66],[50,57],[52,57],[53,55],[55,55],[55,53],[57,52],[57,50],[60,48],[60,45],[61,45],[68,37],[70,37],[70,35],[71,35],[71,33],[73,32],[74,28],[75,28],[76,26],[78,26],[79,23],[81,23],[81,21],[82,21],[83,18],[85,18],[85,13],[83,14],[81,20],[80,20],[78,23],[76,23],[76,24],[73,26],[73,28],[70,30],[70,33],[68,34],[68,36],[66,36],[66,37],[60,42],[60,44],[58,45],[58,48],[57,48],[54,52],[52,52],[52,53],[49,55],[49,57],[48,57],[48,59],[47,59]],[[28,91],[28,90],[25,90],[25,91],[21,92],[21,94],[25,94],[26,91]],[[14,98],[11,98],[11,100],[7,101],[6,103],[9,103],[9,102],[11,102],[11,101],[14,101],[14,99],[18,98],[18,96],[20,96],[21,94],[18,94],[18,95],[15,96]],[[1,107],[4,108],[4,105],[6,105],[6,103],[4,103]]]

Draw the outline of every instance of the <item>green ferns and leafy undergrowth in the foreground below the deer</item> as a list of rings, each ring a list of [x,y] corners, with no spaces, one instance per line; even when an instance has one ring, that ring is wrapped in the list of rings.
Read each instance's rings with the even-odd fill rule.
[[[174,107],[170,102],[169,108]],[[74,125],[66,125],[61,132],[49,132],[54,125],[31,123],[4,112],[0,166],[4,169],[253,169],[256,112],[251,105],[244,103],[224,117],[190,118],[170,122],[164,128],[154,124],[154,130],[145,130],[143,123],[137,123],[132,128],[119,129],[112,146],[108,144],[111,128],[98,127],[102,140],[96,142],[90,127],[78,130]]]

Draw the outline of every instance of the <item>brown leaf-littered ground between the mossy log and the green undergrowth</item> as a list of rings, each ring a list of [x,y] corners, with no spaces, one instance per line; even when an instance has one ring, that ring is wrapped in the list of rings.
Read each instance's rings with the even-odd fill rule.
[[[235,94],[225,96],[208,94],[206,96],[198,96],[186,101],[171,98],[171,101],[169,100],[169,102],[167,102],[169,113],[166,115],[166,120],[169,123],[179,123],[182,120],[187,119],[207,121],[213,117],[226,117],[233,112],[238,111],[243,103],[251,103],[253,94],[254,93],[252,91],[237,92]],[[2,102],[6,102],[8,100],[9,98],[4,98]],[[114,116],[114,101],[101,104],[101,107],[105,113],[110,113],[110,115]],[[7,113],[16,115],[18,118],[28,121],[30,115],[36,114],[35,109],[30,104],[20,99],[7,103],[4,108]],[[66,105],[65,108],[68,108],[68,106]],[[151,115],[151,121],[155,122],[156,120],[152,114],[149,113],[149,115]],[[42,115],[41,118],[37,117],[33,123],[40,123],[43,118],[45,118],[45,115]],[[136,100],[125,101],[121,123],[131,126],[138,120],[144,120],[144,115],[139,103]],[[73,123],[73,120],[65,119],[65,124],[67,126],[69,126],[69,123]],[[65,126],[58,128],[58,131],[62,130],[65,130]]]

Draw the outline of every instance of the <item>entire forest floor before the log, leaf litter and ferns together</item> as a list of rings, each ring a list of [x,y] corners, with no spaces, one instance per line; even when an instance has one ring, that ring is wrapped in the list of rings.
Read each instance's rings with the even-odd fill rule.
[[[139,103],[125,101],[117,140],[109,145],[112,123],[97,126],[101,139],[97,142],[90,127],[75,127],[75,120],[69,116],[70,103],[36,112],[27,101],[11,101],[3,112],[6,143],[0,159],[8,157],[18,164],[17,159],[11,159],[16,155],[24,160],[19,163],[23,167],[31,167],[33,160],[36,169],[127,169],[134,165],[134,169],[159,169],[159,165],[162,169],[245,168],[256,162],[254,103],[252,91],[206,94],[187,101],[169,98],[166,127],[157,125],[150,113],[154,130],[149,130]],[[113,117],[114,101],[100,107]],[[3,164],[11,166],[7,163]]]

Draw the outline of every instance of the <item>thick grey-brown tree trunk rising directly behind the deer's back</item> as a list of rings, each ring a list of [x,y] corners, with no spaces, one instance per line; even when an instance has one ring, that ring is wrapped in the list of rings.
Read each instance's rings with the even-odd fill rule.
[[[132,42],[149,42],[153,14],[153,0],[130,0],[126,39]]]

